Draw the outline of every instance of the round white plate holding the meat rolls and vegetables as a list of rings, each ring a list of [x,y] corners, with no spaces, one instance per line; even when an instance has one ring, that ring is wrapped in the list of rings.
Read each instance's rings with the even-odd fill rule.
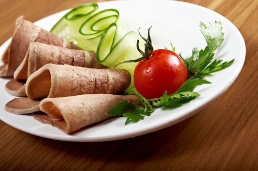
[[[146,6],[148,5],[148,6]],[[245,59],[245,43],[237,27],[223,16],[207,8],[179,1],[108,1],[99,3],[100,9],[115,8],[119,10],[129,30],[137,31],[152,25],[153,43],[163,48],[172,42],[177,52],[189,57],[193,47],[204,48],[205,40],[199,31],[199,22],[221,21],[225,32],[225,41],[216,52],[217,59],[231,60],[230,67],[216,72],[205,79],[213,84],[196,87],[201,95],[194,101],[175,109],[156,109],[150,117],[143,121],[125,126],[125,118],[113,118],[99,124],[84,128],[67,135],[50,125],[44,125],[33,119],[31,115],[11,114],[4,110],[5,104],[14,97],[4,90],[7,79],[0,78],[0,119],[6,124],[33,135],[78,142],[97,142],[118,140],[150,133],[176,124],[201,110],[205,105],[222,94],[237,78]],[[36,24],[49,30],[67,10],[48,16]],[[10,41],[10,40],[9,40]],[[7,41],[8,42],[8,41]],[[7,46],[0,47],[0,54]]]

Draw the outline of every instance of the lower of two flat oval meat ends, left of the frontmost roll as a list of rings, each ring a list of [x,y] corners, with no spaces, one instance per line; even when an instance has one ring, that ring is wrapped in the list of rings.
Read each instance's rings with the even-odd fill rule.
[[[27,114],[40,111],[40,101],[31,100],[30,98],[14,98],[8,102],[4,109],[10,113]]]

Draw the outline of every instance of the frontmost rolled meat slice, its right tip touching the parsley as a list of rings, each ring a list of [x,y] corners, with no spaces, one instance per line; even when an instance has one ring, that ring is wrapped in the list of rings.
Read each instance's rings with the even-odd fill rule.
[[[44,124],[50,124],[71,133],[88,125],[111,118],[107,112],[120,101],[134,103],[134,95],[86,94],[62,98],[46,98],[40,103],[40,109],[47,113],[35,113],[34,118]]]

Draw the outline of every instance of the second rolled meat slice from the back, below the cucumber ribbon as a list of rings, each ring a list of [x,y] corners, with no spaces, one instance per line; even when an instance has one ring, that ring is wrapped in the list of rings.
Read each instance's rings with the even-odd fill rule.
[[[88,68],[107,68],[99,64],[96,53],[67,49],[43,43],[30,43],[29,50],[14,73],[14,79],[26,80],[45,64],[69,64]]]

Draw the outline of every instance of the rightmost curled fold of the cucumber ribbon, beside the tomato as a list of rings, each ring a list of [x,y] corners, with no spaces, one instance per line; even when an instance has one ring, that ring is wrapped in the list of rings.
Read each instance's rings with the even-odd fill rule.
[[[117,39],[116,33],[117,25],[113,23],[102,34],[97,48],[98,62],[110,68],[123,61],[134,60],[141,56],[136,48],[137,40],[140,40],[140,47],[144,47],[144,41],[133,31],[128,32],[117,43],[114,43]],[[126,63],[116,66],[116,68],[128,70],[131,74],[131,84],[128,89],[134,88],[133,74],[136,65],[137,63]]]

